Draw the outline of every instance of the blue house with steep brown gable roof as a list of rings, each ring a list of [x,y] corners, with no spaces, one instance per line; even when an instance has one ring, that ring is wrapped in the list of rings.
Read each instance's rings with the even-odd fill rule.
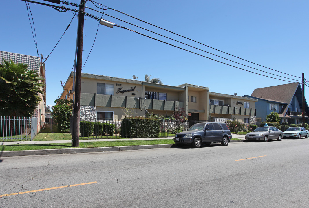
[[[272,87],[257,88],[251,96],[255,98],[256,121],[266,121],[266,116],[277,112],[282,122],[300,124],[303,122],[303,96],[300,83],[282,84]],[[305,99],[305,123],[308,123],[309,108]]]

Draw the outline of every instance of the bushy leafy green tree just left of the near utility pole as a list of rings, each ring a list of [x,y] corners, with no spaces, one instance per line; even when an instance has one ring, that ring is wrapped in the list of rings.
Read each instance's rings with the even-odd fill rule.
[[[70,132],[70,116],[73,108],[73,100],[57,99],[52,106],[52,116],[57,123],[58,132]]]

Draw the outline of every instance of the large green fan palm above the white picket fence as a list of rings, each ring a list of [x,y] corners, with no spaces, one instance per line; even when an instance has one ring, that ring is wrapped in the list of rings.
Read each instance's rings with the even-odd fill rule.
[[[3,59],[0,63],[0,115],[31,116],[40,103],[43,78],[28,64],[15,64]]]

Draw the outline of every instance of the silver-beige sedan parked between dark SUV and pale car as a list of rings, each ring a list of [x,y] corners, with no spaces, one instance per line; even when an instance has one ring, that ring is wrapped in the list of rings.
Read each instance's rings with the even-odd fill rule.
[[[270,139],[277,139],[278,141],[281,141],[282,135],[282,131],[274,126],[262,126],[256,128],[253,132],[246,134],[245,140],[263,140],[266,142]]]

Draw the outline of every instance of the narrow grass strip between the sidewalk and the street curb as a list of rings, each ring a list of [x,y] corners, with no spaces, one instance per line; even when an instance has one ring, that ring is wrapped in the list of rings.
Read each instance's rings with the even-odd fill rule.
[[[91,148],[91,147],[121,147],[121,146],[163,145],[163,144],[175,144],[175,142],[172,139],[155,139],[155,140],[133,140],[133,141],[80,142],[79,147],[71,147],[71,143],[34,144],[34,145],[2,145],[0,146],[0,151]]]

